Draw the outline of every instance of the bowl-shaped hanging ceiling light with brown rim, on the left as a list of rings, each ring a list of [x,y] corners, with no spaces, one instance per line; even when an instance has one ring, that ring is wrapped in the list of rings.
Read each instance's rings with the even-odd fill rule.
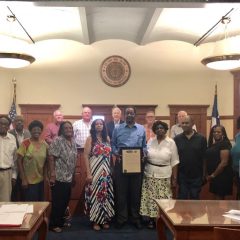
[[[19,22],[19,20],[15,16],[15,14],[11,11],[11,9],[9,7],[7,7],[7,8],[11,12],[11,15],[7,16],[7,21],[10,22],[10,23],[13,23],[13,22],[17,21],[19,23],[19,25],[21,26],[21,28],[24,30],[24,32],[31,39],[31,41],[33,43],[35,43],[33,41],[33,39],[31,38],[31,36],[26,31],[26,29]],[[13,42],[14,40],[17,40],[17,39],[12,38],[11,42]],[[6,45],[7,44],[4,44],[2,46],[6,46]],[[33,56],[28,55],[27,53],[23,52],[22,50],[12,52],[11,49],[14,49],[14,48],[15,47],[9,48],[9,51],[3,49],[3,51],[0,52],[0,67],[4,67],[4,68],[23,68],[23,67],[26,67],[26,66],[30,65],[31,63],[33,63],[35,61],[35,58]]]

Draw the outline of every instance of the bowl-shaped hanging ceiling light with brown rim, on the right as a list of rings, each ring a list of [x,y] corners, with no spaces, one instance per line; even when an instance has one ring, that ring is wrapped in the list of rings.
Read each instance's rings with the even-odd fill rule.
[[[223,53],[221,53],[221,55],[206,57],[201,61],[201,63],[208,68],[215,70],[232,70],[240,67],[240,54],[227,50],[231,47],[231,41],[227,35],[227,25],[230,21],[231,19],[229,17],[222,17],[221,20],[221,23],[224,24],[224,40],[221,42],[223,45]]]

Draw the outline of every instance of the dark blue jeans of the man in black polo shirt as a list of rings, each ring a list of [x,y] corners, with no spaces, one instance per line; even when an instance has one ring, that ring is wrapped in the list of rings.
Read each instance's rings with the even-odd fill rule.
[[[202,189],[203,179],[198,178],[188,178],[184,174],[178,174],[178,199],[199,199],[199,195]]]

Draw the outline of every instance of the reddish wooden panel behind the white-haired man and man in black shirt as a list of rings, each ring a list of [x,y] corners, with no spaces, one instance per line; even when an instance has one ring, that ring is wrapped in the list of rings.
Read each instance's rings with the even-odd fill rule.
[[[170,127],[177,122],[177,113],[186,111],[194,119],[197,131],[207,135],[207,108],[209,105],[168,105],[170,109]]]

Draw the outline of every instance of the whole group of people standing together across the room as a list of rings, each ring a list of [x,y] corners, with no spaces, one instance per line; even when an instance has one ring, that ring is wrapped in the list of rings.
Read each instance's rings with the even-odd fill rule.
[[[79,149],[84,148],[86,165],[85,212],[93,229],[108,229],[115,216],[116,228],[130,220],[142,228],[142,216],[148,227],[155,227],[158,208],[154,199],[199,199],[203,184],[215,199],[232,194],[232,158],[239,155],[223,126],[214,126],[209,141],[199,134],[191,116],[178,113],[172,126],[146,113],[146,124],[136,123],[136,110],[114,107],[113,120],[92,120],[92,110],[84,107],[82,119],[64,121],[54,112],[54,123],[46,126],[32,121],[24,129],[24,120],[0,117],[0,201],[42,201],[44,179],[51,187],[52,211],[50,229],[61,232],[75,184],[75,167]],[[237,135],[236,139],[239,138]],[[236,145],[237,146],[237,145]],[[140,171],[123,171],[123,149],[139,149]],[[176,188],[178,186],[178,188]],[[176,189],[178,192],[176,193]]]

